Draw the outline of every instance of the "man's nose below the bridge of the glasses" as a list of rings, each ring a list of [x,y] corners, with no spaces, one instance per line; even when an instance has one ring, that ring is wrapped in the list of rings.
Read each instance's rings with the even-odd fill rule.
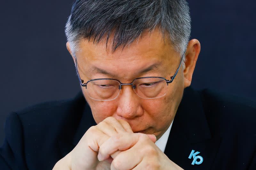
[[[119,93],[116,114],[125,119],[133,119],[143,115],[140,97],[133,91],[131,85],[123,85]]]

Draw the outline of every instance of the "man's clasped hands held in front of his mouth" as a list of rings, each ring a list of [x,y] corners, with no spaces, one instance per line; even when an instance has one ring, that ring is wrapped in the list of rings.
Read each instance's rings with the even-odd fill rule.
[[[182,169],[155,142],[154,135],[133,133],[128,122],[108,117],[89,128],[53,170]]]

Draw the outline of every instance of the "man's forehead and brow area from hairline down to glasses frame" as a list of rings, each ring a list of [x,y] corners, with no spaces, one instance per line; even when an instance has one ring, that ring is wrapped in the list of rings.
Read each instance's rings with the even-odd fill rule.
[[[114,52],[112,44],[108,43],[106,47],[106,41],[96,44],[82,40],[79,48],[76,53],[78,65],[88,79],[98,78],[103,74],[126,80],[144,77],[145,74],[162,77],[165,72],[174,69],[173,63],[179,59],[179,54],[167,39],[164,41],[158,30],[144,33],[129,46],[117,48]],[[148,69],[150,66],[153,66],[153,69]],[[106,72],[108,74],[105,74]]]

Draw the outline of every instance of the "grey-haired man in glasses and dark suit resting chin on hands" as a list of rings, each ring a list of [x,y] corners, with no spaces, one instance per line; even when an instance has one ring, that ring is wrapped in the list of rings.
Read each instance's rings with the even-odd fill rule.
[[[66,35],[82,93],[10,114],[2,169],[256,169],[255,104],[189,87],[186,1],[77,0]]]

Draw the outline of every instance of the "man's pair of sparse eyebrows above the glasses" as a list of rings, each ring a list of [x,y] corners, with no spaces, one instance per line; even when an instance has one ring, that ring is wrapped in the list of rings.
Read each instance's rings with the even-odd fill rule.
[[[160,65],[161,65],[161,62],[154,63],[154,64],[150,65],[149,67],[147,67],[143,70],[140,70],[137,74],[143,74],[143,73],[146,73],[146,72],[152,71],[152,70],[159,70]],[[115,77],[115,74],[109,73],[108,71],[100,69],[96,66],[93,66],[92,68],[90,68],[89,71],[94,72],[94,73],[108,75],[108,76],[111,76],[111,77]]]

